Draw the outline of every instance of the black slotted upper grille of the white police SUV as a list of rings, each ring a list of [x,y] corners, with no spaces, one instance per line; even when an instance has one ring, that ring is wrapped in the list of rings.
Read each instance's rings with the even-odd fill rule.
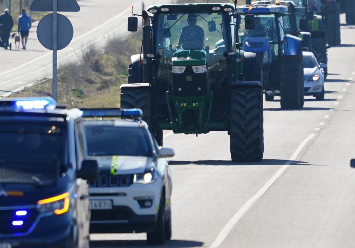
[[[90,187],[127,187],[133,183],[132,175],[100,175],[90,183]]]

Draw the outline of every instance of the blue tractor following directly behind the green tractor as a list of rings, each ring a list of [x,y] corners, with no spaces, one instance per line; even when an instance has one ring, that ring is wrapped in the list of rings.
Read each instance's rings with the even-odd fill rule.
[[[305,101],[302,39],[285,31],[283,17],[288,12],[287,6],[275,4],[237,6],[235,13],[244,14],[236,16],[235,25],[242,50],[256,53],[262,64],[265,100],[279,95],[282,109],[297,109]],[[255,16],[253,30],[244,28],[249,13]]]

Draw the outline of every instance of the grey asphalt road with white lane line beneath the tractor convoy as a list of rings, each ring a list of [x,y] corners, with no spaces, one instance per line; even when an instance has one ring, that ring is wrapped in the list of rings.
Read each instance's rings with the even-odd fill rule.
[[[306,97],[295,111],[264,102],[261,163],[231,163],[224,132],[164,132],[176,156],[173,237],[163,247],[354,247],[354,28],[343,24],[342,45],[329,49],[323,101]],[[146,247],[145,238],[91,235],[91,247]]]

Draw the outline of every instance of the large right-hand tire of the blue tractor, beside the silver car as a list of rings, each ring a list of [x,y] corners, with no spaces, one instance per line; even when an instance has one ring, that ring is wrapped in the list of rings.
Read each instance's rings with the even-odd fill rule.
[[[302,78],[300,81],[300,73],[303,74],[303,67],[299,60],[282,60],[280,87],[282,109],[297,109],[301,106],[301,86],[304,87],[304,80]]]

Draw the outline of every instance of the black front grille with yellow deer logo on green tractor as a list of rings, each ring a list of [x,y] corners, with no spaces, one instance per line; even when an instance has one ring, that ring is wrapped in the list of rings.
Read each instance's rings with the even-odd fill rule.
[[[191,66],[187,66],[182,74],[173,74],[173,94],[175,96],[204,96],[207,94],[207,73],[195,73]],[[191,76],[192,81],[186,77]],[[179,90],[179,88],[181,90]],[[200,88],[200,90],[199,90]]]

